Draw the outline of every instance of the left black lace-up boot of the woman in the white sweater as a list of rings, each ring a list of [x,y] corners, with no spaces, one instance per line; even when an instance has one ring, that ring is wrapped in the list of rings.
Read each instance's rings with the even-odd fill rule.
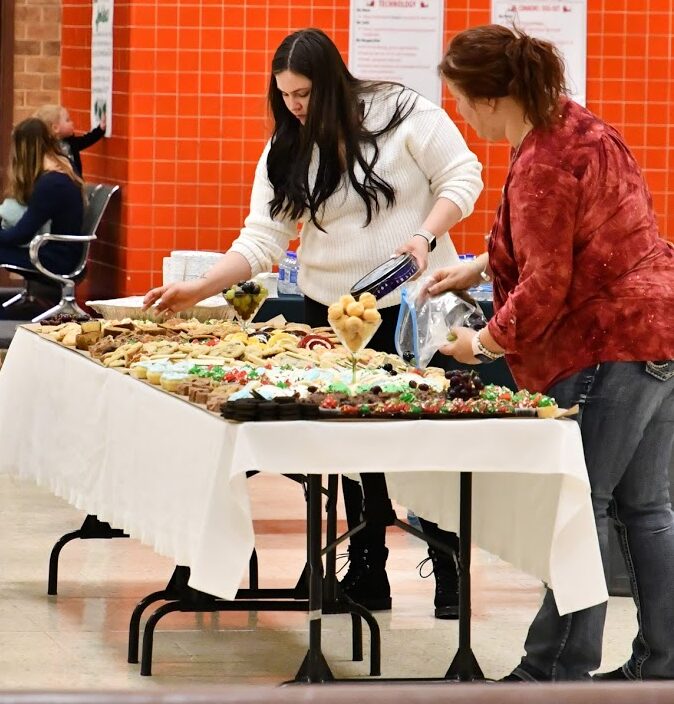
[[[391,609],[391,585],[386,576],[387,548],[349,546],[349,571],[339,582],[340,590],[369,611]]]

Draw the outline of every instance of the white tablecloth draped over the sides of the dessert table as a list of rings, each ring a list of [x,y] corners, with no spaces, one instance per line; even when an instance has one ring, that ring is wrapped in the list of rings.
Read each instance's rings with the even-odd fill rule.
[[[123,528],[223,598],[254,545],[253,469],[386,472],[392,498],[454,529],[457,473],[471,471],[478,545],[549,583],[561,613],[608,598],[570,421],[233,424],[19,329],[0,371],[0,448],[1,472]]]

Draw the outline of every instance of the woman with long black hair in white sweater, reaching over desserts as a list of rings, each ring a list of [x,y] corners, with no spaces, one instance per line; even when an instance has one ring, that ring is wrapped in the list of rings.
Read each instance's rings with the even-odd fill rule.
[[[318,29],[291,34],[277,49],[269,82],[274,131],[253,183],[240,237],[206,278],[150,291],[146,305],[182,310],[278,262],[301,225],[299,285],[306,322],[325,325],[327,306],[394,252],[421,270],[458,262],[448,230],[472,212],[480,164],[436,105],[404,86],[352,76]],[[399,293],[379,301],[383,323],[371,347],[393,351]],[[362,494],[344,480],[349,525],[360,522]],[[456,545],[454,534],[424,530]],[[371,609],[391,608],[385,529],[353,536],[342,588]],[[456,571],[430,551],[436,616],[457,615]]]

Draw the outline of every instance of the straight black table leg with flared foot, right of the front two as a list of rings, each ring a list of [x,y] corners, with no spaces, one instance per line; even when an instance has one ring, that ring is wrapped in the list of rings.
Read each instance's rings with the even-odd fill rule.
[[[461,472],[459,499],[459,649],[447,679],[483,680],[484,674],[470,646],[470,542],[473,517],[473,475]]]

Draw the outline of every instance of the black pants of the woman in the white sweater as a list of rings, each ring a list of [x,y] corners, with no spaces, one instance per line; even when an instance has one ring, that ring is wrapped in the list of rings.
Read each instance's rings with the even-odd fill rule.
[[[311,327],[322,327],[328,325],[328,308],[327,306],[305,297],[305,322]],[[381,352],[389,352],[395,354],[395,329],[398,322],[399,306],[383,308],[381,313],[381,325],[369,343],[369,347]],[[437,366],[442,364],[443,355],[436,355],[438,359],[433,359],[432,363]],[[444,359],[450,359],[444,357]],[[342,477],[342,491],[344,493],[344,506],[346,508],[346,523],[349,530],[355,528],[363,520],[363,490],[358,482],[347,477]],[[368,502],[375,503],[377,501],[386,501],[386,496],[370,496],[368,494]],[[436,523],[431,523],[419,517],[419,522],[424,530],[424,533],[432,536],[436,540],[446,543],[448,547],[456,545],[456,534],[438,528]],[[386,528],[383,526],[366,525],[363,530],[358,531],[351,538],[351,546],[356,550],[365,548],[383,548],[386,540]]]

